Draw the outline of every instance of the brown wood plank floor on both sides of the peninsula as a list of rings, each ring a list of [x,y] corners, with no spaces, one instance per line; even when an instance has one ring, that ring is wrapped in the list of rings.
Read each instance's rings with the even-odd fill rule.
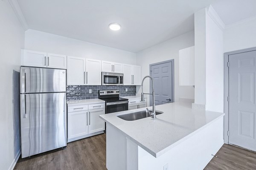
[[[224,144],[204,170],[256,170],[256,153]],[[19,158],[14,170],[107,170],[106,135],[69,143],[30,158]]]

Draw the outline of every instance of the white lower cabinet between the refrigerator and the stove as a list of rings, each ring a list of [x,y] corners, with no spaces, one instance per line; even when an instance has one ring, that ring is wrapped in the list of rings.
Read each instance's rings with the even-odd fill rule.
[[[67,142],[103,133],[103,130],[105,130],[105,122],[99,118],[99,115],[105,114],[105,104],[100,103],[68,107]],[[88,110],[88,108],[96,109]]]

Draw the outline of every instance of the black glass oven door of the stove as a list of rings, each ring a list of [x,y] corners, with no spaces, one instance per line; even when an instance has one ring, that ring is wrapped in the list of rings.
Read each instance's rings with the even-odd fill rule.
[[[105,113],[128,111],[128,101],[106,103]]]

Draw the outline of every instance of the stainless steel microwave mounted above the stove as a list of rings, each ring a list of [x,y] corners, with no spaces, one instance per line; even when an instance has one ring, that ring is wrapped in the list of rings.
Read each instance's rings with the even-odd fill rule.
[[[124,74],[102,72],[102,85],[124,85]]]

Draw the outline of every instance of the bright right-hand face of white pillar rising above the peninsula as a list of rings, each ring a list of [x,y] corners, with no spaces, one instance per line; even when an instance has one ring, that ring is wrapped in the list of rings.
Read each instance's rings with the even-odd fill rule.
[[[217,17],[217,16],[216,16]],[[223,31],[206,15],[206,110],[224,112]]]

